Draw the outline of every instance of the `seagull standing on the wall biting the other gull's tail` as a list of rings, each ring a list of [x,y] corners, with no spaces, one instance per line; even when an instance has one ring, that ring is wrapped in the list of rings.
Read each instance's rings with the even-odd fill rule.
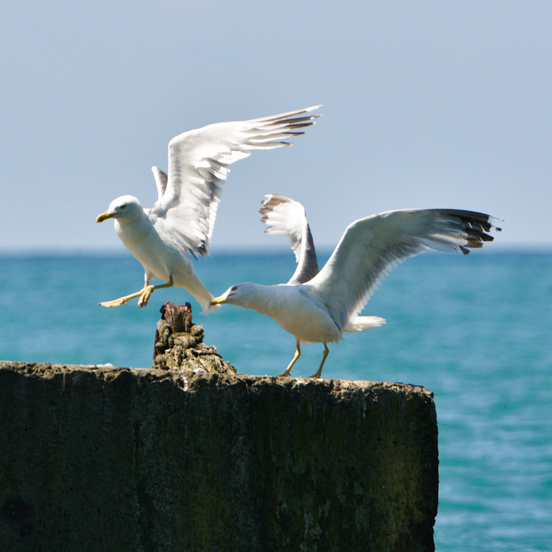
[[[324,345],[322,362],[311,376],[318,378],[329,353],[328,343],[339,342],[344,333],[384,324],[381,317],[358,313],[397,263],[429,249],[467,255],[470,248],[493,241],[488,234],[491,228],[501,230],[496,226],[500,219],[469,210],[386,211],[349,224],[318,272],[312,235],[301,204],[282,195],[266,198],[261,220],[273,226],[265,231],[288,237],[298,261],[297,270],[286,284],[243,282],[230,286],[215,297],[212,305],[228,303],[253,308],[275,319],[295,337],[295,355],[282,376],[288,376],[299,359],[302,342]]]

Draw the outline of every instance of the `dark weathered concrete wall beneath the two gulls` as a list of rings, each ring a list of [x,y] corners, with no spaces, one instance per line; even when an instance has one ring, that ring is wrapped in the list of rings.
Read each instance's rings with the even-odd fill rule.
[[[431,393],[0,363],[0,551],[426,551]]]

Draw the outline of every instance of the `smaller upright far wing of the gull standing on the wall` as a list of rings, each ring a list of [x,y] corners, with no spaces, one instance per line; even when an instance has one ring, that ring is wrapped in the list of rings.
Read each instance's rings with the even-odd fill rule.
[[[318,274],[315,244],[304,207],[285,195],[270,194],[265,198],[261,201],[264,207],[259,209],[261,221],[268,225],[264,231],[288,237],[297,262],[288,284],[303,284]]]

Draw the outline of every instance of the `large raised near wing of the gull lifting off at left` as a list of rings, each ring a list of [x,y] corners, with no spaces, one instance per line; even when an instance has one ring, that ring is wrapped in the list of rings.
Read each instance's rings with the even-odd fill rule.
[[[154,224],[193,254],[205,255],[229,165],[250,150],[290,146],[289,137],[311,126],[319,115],[305,115],[320,106],[250,121],[217,123],[175,136],[168,144],[168,184],[152,208]]]

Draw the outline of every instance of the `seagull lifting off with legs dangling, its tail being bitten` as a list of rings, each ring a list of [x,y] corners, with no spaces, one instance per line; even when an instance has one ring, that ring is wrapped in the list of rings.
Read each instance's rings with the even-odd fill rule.
[[[139,297],[146,306],[155,289],[178,286],[204,308],[213,295],[195,274],[190,255],[207,255],[217,207],[230,172],[229,165],[250,155],[250,150],[291,146],[286,139],[304,134],[320,115],[311,106],[249,121],[217,123],[188,130],[168,144],[168,175],[152,167],[157,201],[143,208],[132,195],[114,199],[96,221],[114,219],[121,242],[144,267],[144,287],[135,293],[101,302],[117,307]],[[159,278],[164,284],[151,285]]]

